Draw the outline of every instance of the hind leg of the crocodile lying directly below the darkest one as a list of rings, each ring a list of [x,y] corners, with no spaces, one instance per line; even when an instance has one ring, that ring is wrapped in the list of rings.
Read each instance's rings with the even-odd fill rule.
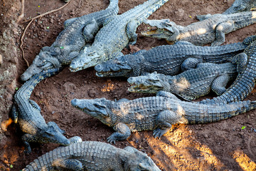
[[[227,86],[228,81],[229,81],[228,73],[218,76],[217,78],[214,79],[211,89],[217,95],[222,95],[226,90],[225,86]]]

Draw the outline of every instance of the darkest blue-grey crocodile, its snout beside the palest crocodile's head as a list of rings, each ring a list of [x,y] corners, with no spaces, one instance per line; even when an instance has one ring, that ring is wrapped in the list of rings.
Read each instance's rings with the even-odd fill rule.
[[[229,62],[247,46],[247,42],[223,46],[195,46],[187,41],[178,41],[174,45],[157,46],[149,51],[142,50],[133,55],[114,58],[98,64],[95,70],[100,77],[142,76],[154,71],[174,76],[181,73],[181,70],[196,68],[196,64],[202,61]]]

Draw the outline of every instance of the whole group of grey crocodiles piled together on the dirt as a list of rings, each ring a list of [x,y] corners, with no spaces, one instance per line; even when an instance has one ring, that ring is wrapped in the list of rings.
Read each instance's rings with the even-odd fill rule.
[[[142,130],[153,130],[154,137],[161,138],[176,123],[213,123],[256,108],[256,101],[244,100],[255,86],[256,36],[220,46],[226,33],[256,23],[256,11],[251,10],[256,1],[235,0],[223,14],[198,15],[199,21],[188,26],[169,19],[147,19],[168,1],[148,0],[117,14],[118,0],[110,0],[105,10],[64,22],[55,42],[43,47],[21,75],[26,83],[14,95],[11,118],[24,133],[24,152],[31,153],[29,142],[66,147],[47,152],[23,170],[159,170],[134,147],[119,149],[78,136],[68,139],[56,123],[46,123],[39,105],[29,98],[40,81],[66,65],[72,72],[95,66],[99,77],[127,77],[131,92],[156,93],[134,100],[71,100],[75,108],[114,128],[116,132],[107,138],[110,143]],[[136,43],[136,30],[142,23],[156,27],[143,36],[174,44],[124,55],[122,49]],[[207,43],[211,46],[203,46]],[[210,90],[219,96],[192,101]]]

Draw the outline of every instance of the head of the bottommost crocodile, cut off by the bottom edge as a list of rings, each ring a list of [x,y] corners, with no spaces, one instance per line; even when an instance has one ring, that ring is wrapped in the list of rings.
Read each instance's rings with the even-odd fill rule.
[[[154,164],[153,160],[144,152],[140,152],[134,147],[124,147],[124,150],[129,152],[127,156],[120,156],[124,162],[124,170],[139,171],[150,170],[160,171],[159,167]]]

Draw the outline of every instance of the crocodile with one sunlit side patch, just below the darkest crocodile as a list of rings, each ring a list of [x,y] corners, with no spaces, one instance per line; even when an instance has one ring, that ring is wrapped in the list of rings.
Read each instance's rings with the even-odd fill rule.
[[[196,68],[177,76],[166,76],[162,73],[149,73],[146,76],[130,77],[128,88],[135,93],[157,93],[168,91],[186,100],[194,100],[210,93],[217,95],[225,91],[228,81],[237,76],[236,66],[232,63],[199,63]]]

